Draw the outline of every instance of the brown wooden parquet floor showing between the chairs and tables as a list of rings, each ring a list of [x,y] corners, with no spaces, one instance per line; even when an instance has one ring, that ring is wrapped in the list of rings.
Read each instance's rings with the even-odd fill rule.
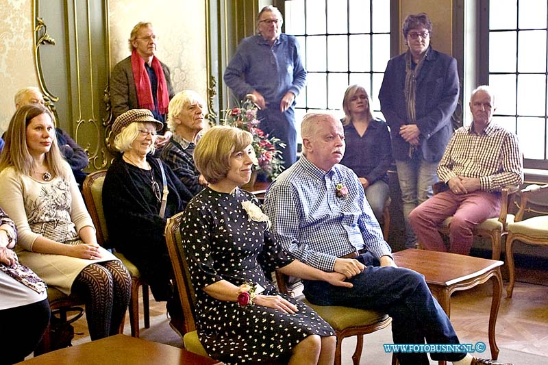
[[[548,284],[548,273],[519,269],[518,278]],[[506,283],[505,283],[506,284]],[[451,322],[461,342],[485,342],[491,301],[490,283],[472,290],[456,292],[451,297]],[[152,298],[152,296],[151,296]],[[140,311],[142,314],[142,310]],[[165,315],[165,303],[151,299],[151,316]],[[129,328],[129,316],[125,325]],[[75,339],[88,336],[84,318],[75,323]],[[512,299],[503,291],[497,320],[497,344],[501,348],[548,357],[548,286],[517,282]]]

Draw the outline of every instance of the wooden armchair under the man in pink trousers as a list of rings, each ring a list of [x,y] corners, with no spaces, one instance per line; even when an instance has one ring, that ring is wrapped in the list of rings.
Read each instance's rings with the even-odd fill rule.
[[[438,194],[439,192],[448,190],[449,186],[443,181],[438,181],[432,186],[432,189],[434,190],[434,194]],[[508,214],[508,207],[518,191],[519,188],[517,186],[506,186],[503,188],[501,190],[502,205],[499,216],[497,218],[489,218],[486,221],[479,223],[479,225],[474,228],[475,236],[490,239],[493,247],[493,253],[491,255],[492,260],[499,260],[501,257],[502,238],[508,234],[508,223],[514,221],[514,215]],[[440,227],[438,227],[438,231],[440,231],[441,234],[445,234],[446,236],[449,235],[449,225],[451,224],[452,218],[452,216],[448,217],[441,223]]]

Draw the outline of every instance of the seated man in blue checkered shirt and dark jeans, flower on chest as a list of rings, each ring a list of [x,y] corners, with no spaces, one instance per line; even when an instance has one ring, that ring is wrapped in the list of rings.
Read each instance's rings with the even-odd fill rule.
[[[353,288],[303,280],[316,305],[387,312],[399,344],[456,344],[458,337],[423,275],[398,268],[367,203],[358,177],[338,164],[345,153],[343,125],[331,114],[307,114],[301,125],[303,156],[279,175],[264,208],[273,238],[298,260],[342,273]],[[405,364],[429,364],[425,353],[398,353]],[[467,353],[432,353],[453,364],[497,364]]]

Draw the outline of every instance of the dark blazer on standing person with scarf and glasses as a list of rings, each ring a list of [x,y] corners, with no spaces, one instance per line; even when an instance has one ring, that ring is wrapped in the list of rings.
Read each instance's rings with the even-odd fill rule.
[[[406,112],[406,54],[388,61],[379,100],[390,126],[395,160],[409,159],[409,144],[399,136],[399,127],[409,124]],[[453,134],[451,116],[459,96],[457,61],[450,55],[430,49],[416,79],[416,125],[421,129],[420,151],[424,160],[441,160]]]

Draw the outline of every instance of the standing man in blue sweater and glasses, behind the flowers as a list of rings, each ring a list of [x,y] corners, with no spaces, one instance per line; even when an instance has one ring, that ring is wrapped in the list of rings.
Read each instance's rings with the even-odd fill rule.
[[[253,95],[261,108],[261,129],[286,144],[282,158],[288,168],[297,160],[295,97],[306,84],[306,70],[297,38],[281,33],[284,20],[279,10],[265,6],[257,18],[259,34],[242,40],[224,79],[240,99]]]

